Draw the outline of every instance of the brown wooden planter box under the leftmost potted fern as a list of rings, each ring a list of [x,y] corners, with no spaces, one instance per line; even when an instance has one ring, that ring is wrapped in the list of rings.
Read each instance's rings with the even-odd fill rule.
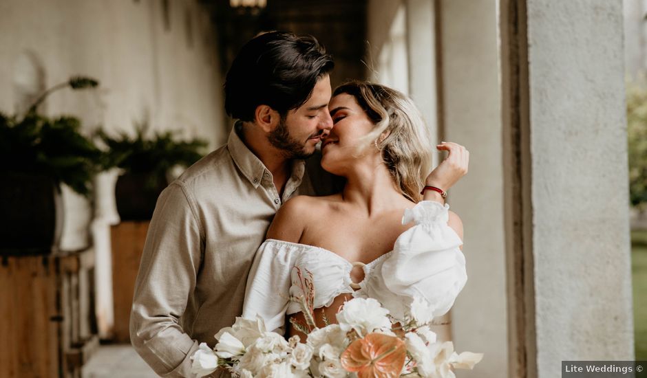
[[[98,346],[94,250],[3,256],[0,377],[81,377]]]

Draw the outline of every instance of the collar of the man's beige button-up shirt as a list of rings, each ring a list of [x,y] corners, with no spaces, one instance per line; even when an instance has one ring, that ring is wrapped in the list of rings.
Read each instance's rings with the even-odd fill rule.
[[[229,154],[235,162],[236,166],[244,177],[251,182],[254,188],[257,188],[263,179],[264,173],[270,173],[270,171],[265,167],[265,164],[254,155],[254,153],[245,145],[245,143],[240,139],[237,130],[240,129],[239,122],[231,128],[229,133],[229,140],[227,140],[227,148],[229,148]],[[295,185],[299,186],[301,180],[304,177],[304,172],[306,162],[303,159],[294,159],[292,163],[292,175],[288,181],[295,181]]]

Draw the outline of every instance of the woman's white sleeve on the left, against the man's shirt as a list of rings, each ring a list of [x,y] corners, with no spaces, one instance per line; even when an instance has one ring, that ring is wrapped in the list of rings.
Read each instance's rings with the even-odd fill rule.
[[[285,332],[294,256],[289,248],[268,241],[259,247],[247,278],[243,318],[260,316],[268,331]]]

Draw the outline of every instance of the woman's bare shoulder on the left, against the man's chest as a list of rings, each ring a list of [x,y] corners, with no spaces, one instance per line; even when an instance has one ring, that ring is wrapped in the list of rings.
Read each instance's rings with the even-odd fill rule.
[[[299,243],[308,223],[313,219],[321,219],[330,205],[338,201],[341,201],[339,194],[323,197],[296,196],[288,199],[276,213],[266,238]]]

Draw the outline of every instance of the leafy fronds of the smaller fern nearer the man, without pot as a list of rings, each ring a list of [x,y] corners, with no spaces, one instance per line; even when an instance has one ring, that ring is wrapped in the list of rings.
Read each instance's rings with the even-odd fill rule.
[[[127,133],[111,137],[99,130],[98,137],[108,148],[103,157],[103,168],[118,167],[127,173],[164,177],[173,166],[188,167],[197,162],[208,144],[206,140],[198,138],[178,140],[177,131],[161,131],[147,137],[147,130],[145,123],[136,125],[134,137]]]

